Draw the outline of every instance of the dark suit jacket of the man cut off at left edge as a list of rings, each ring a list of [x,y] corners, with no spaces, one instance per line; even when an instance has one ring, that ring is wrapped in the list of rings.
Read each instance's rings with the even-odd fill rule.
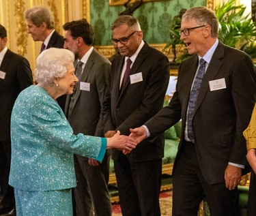
[[[0,78],[0,140],[10,140],[12,107],[18,94],[33,84],[29,62],[24,57],[7,50],[0,67],[5,78]]]

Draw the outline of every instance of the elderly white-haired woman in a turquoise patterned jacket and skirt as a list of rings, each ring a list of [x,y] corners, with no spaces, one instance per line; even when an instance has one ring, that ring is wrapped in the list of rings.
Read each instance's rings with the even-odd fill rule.
[[[71,188],[76,186],[73,154],[102,161],[106,149],[131,151],[136,143],[120,136],[74,135],[55,101],[72,94],[78,81],[74,54],[50,48],[36,60],[35,80],[23,90],[12,111],[12,161],[9,183],[14,187],[17,215],[72,215]]]

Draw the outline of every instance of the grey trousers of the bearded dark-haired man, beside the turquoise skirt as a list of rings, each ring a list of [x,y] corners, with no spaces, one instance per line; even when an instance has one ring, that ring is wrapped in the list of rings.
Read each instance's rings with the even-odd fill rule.
[[[77,186],[74,188],[73,209],[77,216],[111,216],[109,198],[109,159],[107,153],[99,166],[88,164],[88,158],[74,155]]]

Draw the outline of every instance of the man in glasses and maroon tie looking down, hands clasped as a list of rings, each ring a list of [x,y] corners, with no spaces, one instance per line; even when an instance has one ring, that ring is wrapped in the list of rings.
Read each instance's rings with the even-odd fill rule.
[[[143,41],[136,18],[119,16],[112,24],[111,42],[119,54],[111,67],[113,130],[106,137],[117,130],[128,135],[131,127],[153,117],[163,106],[169,82],[168,58]],[[113,151],[122,215],[160,216],[163,155],[163,134],[141,142],[128,155]]]

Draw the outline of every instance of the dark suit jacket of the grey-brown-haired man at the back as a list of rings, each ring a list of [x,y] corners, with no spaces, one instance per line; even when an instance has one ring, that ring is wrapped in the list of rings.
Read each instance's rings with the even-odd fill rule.
[[[64,38],[62,35],[60,35],[59,33],[57,33],[57,31],[53,32],[53,35],[51,36],[48,45],[46,46],[46,49],[51,48],[51,47],[55,47],[55,48],[63,48],[64,46]],[[59,106],[61,107],[61,109],[65,110],[65,104],[66,104],[66,97],[67,95],[62,95],[61,97],[58,97],[56,100],[59,104]]]

